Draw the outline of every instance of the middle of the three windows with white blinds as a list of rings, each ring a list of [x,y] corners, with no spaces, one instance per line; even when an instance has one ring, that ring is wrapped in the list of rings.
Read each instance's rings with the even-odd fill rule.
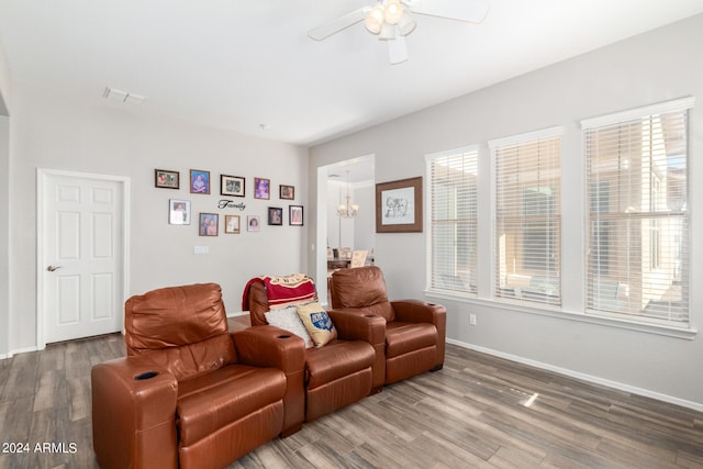
[[[489,144],[495,170],[495,298],[561,304],[560,132]]]

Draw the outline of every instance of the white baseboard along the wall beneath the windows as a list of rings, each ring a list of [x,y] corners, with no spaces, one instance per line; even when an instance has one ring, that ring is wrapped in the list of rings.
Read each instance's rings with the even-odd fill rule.
[[[625,384],[623,382],[612,381],[609,379],[585,375],[585,373],[569,370],[566,368],[555,367],[554,365],[543,364],[542,361],[531,360],[528,358],[520,357],[517,355],[505,354],[503,351],[493,350],[491,348],[486,348],[486,347],[481,347],[473,344],[468,344],[466,342],[447,338],[447,344],[453,344],[462,348],[468,348],[470,350],[476,350],[482,354],[492,355],[494,357],[504,358],[506,360],[516,361],[518,364],[528,365],[531,367],[539,368],[543,370],[554,371],[559,375],[580,379],[582,381],[588,381],[594,384],[617,389],[618,391],[625,391],[632,394],[644,395],[645,398],[651,398],[651,399],[656,399],[657,401],[668,402],[670,404],[681,405],[683,407],[692,409],[698,412],[703,412],[703,404],[699,402],[687,401],[684,399],[674,398],[668,394],[661,394],[659,392],[650,391],[648,389],[636,388],[634,386]]]

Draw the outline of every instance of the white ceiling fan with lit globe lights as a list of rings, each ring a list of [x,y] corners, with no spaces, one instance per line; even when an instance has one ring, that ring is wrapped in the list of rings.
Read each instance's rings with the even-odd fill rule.
[[[390,63],[401,64],[408,60],[405,36],[416,26],[413,15],[480,23],[488,10],[488,0],[378,0],[376,5],[330,20],[310,30],[308,35],[322,41],[362,21],[369,33],[388,43]]]

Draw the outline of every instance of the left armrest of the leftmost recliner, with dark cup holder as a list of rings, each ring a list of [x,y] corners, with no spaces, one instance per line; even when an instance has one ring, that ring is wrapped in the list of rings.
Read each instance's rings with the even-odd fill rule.
[[[176,468],[178,382],[143,357],[116,358],[91,370],[92,434],[108,468]]]

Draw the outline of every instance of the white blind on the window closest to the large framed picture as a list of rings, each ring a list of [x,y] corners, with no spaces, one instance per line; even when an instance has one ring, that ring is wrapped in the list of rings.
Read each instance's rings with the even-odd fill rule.
[[[432,290],[476,293],[478,149],[427,156]]]

